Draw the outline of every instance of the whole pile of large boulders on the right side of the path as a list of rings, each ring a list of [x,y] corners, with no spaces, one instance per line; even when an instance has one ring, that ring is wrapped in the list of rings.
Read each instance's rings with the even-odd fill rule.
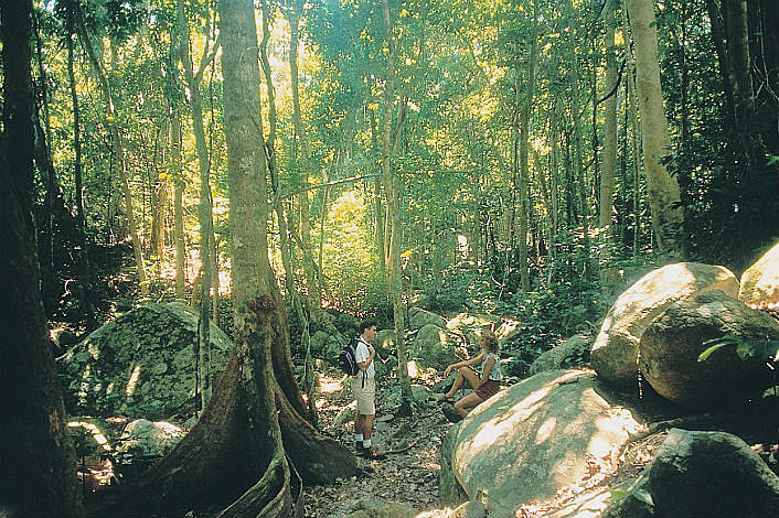
[[[779,245],[740,282],[724,267],[694,262],[645,274],[604,320],[589,352],[595,371],[559,370],[590,344],[572,337],[451,428],[441,446],[442,503],[483,506],[492,518],[779,516],[779,477],[725,432],[673,429],[639,478],[598,486],[649,424],[619,396],[636,392],[639,373],[682,414],[762,397],[773,377],[759,344],[779,341],[779,322],[757,310],[778,303]],[[700,360],[723,337],[729,345]],[[558,505],[538,512],[545,501]]]

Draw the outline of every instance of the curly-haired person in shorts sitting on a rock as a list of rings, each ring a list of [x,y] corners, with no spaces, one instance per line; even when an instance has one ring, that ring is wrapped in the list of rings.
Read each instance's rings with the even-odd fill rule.
[[[457,378],[449,391],[444,395],[444,401],[455,403],[455,410],[463,418],[470,409],[494,396],[500,390],[500,381],[503,379],[495,335],[491,331],[484,331],[479,337],[479,345],[482,348],[481,354],[471,359],[451,364],[444,371],[444,377],[447,377],[449,373],[457,369]],[[479,369],[481,376],[477,375],[470,367],[479,361],[481,361],[481,368]],[[455,392],[465,381],[468,381],[473,388],[473,392],[455,402]]]

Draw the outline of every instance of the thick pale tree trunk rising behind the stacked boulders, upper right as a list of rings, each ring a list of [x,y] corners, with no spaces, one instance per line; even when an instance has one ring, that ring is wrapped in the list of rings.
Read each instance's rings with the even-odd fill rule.
[[[658,248],[670,256],[683,256],[681,229],[684,216],[680,206],[679,183],[662,159],[670,151],[668,119],[663,108],[658,63],[658,33],[654,6],[649,0],[627,0],[636,44],[636,89],[641,112],[643,161]]]

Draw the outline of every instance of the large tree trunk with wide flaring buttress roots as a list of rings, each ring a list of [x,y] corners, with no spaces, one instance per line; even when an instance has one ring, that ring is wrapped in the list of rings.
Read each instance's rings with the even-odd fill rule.
[[[271,357],[286,339],[286,320],[268,258],[254,9],[223,0],[220,15],[235,352],[190,433],[146,474],[104,492],[96,515],[211,512],[217,505],[227,506],[222,517],[292,516],[285,450],[308,483],[356,473],[354,457],[300,418],[277,382],[282,373]]]

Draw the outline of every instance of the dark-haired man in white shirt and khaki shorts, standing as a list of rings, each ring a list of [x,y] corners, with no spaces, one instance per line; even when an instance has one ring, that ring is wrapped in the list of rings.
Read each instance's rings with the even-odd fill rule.
[[[352,393],[358,400],[358,414],[354,418],[354,447],[362,451],[365,458],[384,458],[384,454],[377,452],[371,442],[373,431],[373,420],[376,417],[376,381],[374,379],[376,367],[373,360],[376,357],[376,349],[372,342],[376,337],[376,323],[366,320],[360,324],[360,339],[354,353],[360,370],[352,377]]]

